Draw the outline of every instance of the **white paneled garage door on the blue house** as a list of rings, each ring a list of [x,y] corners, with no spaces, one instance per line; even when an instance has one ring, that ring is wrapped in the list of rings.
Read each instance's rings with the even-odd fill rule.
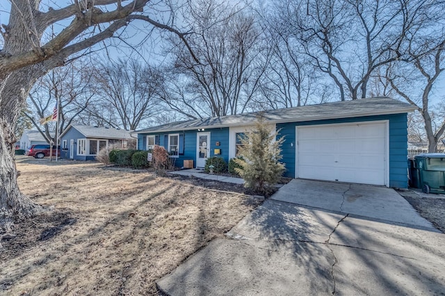
[[[298,126],[296,176],[386,185],[387,123]]]

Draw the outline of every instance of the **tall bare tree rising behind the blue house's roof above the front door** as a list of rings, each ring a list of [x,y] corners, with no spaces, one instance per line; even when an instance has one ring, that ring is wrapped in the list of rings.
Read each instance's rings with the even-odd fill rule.
[[[268,63],[254,17],[218,0],[191,3],[184,15],[193,54],[172,42],[174,65],[165,83],[173,91],[164,101],[192,118],[248,110]]]

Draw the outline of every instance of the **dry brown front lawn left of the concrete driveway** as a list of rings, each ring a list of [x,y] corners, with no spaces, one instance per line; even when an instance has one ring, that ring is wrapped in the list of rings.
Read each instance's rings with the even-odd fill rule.
[[[22,192],[51,211],[1,241],[0,295],[156,294],[156,279],[259,204],[98,163],[22,156],[17,169]]]

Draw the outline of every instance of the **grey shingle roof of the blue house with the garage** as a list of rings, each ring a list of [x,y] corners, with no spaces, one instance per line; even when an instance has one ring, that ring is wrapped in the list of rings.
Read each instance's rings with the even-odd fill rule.
[[[266,121],[270,123],[279,123],[408,113],[414,110],[415,108],[413,106],[403,101],[398,101],[389,97],[375,97],[353,101],[337,101],[334,103],[266,110],[254,113],[242,113],[238,115],[210,117],[183,122],[172,122],[161,126],[152,126],[148,129],[134,131],[134,133],[184,131],[196,128],[249,125],[253,124],[259,113],[264,115]]]

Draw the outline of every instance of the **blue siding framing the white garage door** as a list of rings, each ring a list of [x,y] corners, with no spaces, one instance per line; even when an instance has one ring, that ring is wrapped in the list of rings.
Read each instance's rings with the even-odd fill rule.
[[[368,122],[389,120],[389,186],[407,188],[407,115],[378,115],[367,117],[344,118],[337,120],[318,120],[312,122],[289,122],[277,124],[281,129],[278,135],[284,135],[282,161],[286,165],[285,176],[295,177],[296,126],[315,124],[339,124],[348,122]]]

